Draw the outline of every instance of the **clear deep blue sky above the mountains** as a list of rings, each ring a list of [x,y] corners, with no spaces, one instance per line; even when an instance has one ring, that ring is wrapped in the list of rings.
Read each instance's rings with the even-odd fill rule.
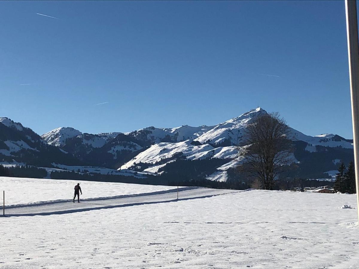
[[[259,105],[353,137],[344,1],[1,1],[0,25],[0,116],[39,134],[212,125]]]

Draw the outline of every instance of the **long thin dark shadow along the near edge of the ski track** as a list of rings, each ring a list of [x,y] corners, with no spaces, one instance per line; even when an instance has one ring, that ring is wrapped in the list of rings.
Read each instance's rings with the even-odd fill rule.
[[[143,204],[160,204],[160,203],[170,203],[177,201],[185,201],[185,200],[193,200],[193,199],[201,199],[201,198],[209,198],[217,195],[223,194],[211,194],[197,197],[189,197],[189,198],[180,198],[180,199],[171,199],[164,201],[154,201],[154,202],[137,202],[137,203],[129,203],[129,204],[119,204],[115,206],[102,206],[102,207],[89,207],[89,208],[78,208],[78,209],[67,209],[62,211],[53,211],[53,212],[38,212],[38,213],[24,213],[24,214],[6,214],[6,217],[22,217],[22,216],[49,216],[49,215],[61,215],[61,214],[69,214],[75,212],[85,212],[91,210],[99,210],[99,209],[109,209],[109,208],[118,208],[118,207],[130,207],[130,206],[140,206]]]

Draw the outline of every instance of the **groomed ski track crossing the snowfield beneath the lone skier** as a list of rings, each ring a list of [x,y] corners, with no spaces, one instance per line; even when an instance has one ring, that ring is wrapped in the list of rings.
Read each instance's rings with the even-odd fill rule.
[[[216,195],[237,193],[227,189],[209,189],[201,187],[182,187],[178,189],[178,200],[207,198]],[[242,191],[243,192],[243,191]],[[81,197],[81,196],[80,196]],[[36,216],[52,214],[68,214],[98,209],[137,206],[142,204],[168,203],[177,201],[177,188],[152,193],[133,195],[118,195],[113,197],[99,197],[69,200],[54,200],[32,204],[17,204],[5,207],[5,216]]]

